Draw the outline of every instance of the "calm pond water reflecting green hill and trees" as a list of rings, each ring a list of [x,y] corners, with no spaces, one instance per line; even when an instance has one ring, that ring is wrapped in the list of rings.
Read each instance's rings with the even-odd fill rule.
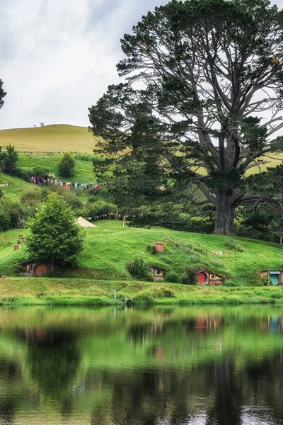
[[[283,307],[0,310],[0,424],[283,424]]]

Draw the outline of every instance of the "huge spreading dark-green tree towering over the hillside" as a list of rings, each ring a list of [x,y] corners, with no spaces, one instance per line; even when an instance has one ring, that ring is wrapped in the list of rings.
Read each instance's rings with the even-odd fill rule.
[[[282,11],[266,0],[173,0],[121,41],[127,79],[89,108],[100,169],[114,162],[108,178],[133,198],[185,200],[193,184],[215,232],[232,234],[242,205],[268,200],[246,171],[283,147]]]

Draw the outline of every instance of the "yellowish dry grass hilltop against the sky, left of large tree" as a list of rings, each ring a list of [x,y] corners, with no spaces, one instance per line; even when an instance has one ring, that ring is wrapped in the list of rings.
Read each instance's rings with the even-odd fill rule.
[[[96,140],[86,127],[61,124],[0,130],[2,149],[9,143],[18,151],[93,152]]]

